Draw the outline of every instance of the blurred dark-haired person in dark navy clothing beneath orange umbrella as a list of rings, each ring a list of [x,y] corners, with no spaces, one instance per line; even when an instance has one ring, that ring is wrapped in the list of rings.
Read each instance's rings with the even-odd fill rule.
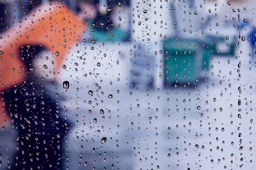
[[[20,49],[20,57],[29,72],[21,86],[4,92],[14,126],[19,130],[20,152],[12,170],[61,170],[64,166],[63,138],[70,124],[60,114],[54,82],[33,72],[32,60],[36,60],[42,50],[40,46]],[[51,86],[52,91],[47,86]]]

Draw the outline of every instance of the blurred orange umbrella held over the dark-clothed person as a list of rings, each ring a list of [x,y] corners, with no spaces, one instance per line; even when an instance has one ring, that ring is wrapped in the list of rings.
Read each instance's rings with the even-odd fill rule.
[[[52,51],[56,55],[54,65],[58,71],[85,29],[85,22],[64,4],[47,4],[35,9],[13,31],[7,31],[1,36],[0,91],[3,93],[18,86],[25,79],[27,71],[19,57],[21,46],[42,45]],[[1,105],[0,124],[7,119],[4,99]]]

